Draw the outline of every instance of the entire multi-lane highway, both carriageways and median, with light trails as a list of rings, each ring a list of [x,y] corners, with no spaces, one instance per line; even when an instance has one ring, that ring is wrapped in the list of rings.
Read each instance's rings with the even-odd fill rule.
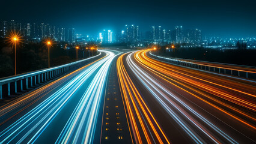
[[[256,143],[254,80],[157,61],[150,50],[99,50],[4,101],[0,143]]]

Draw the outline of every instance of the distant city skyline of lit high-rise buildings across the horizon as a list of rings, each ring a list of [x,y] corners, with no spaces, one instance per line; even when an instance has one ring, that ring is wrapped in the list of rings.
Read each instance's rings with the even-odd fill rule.
[[[124,25],[122,30],[102,29],[91,35],[83,35],[75,28],[56,27],[49,23],[20,23],[16,20],[2,21],[0,23],[0,37],[8,37],[11,31],[16,31],[26,41],[38,42],[46,38],[55,41],[63,41],[69,44],[78,43],[125,43],[127,46],[148,46],[148,44],[160,44],[161,46],[170,43],[182,44],[181,47],[211,47],[211,48],[234,48],[237,42],[245,43],[246,48],[255,49],[255,37],[246,38],[223,38],[206,37],[201,29],[184,28],[175,26],[172,29],[165,29],[162,26],[151,26],[149,31],[141,31],[139,25]]]

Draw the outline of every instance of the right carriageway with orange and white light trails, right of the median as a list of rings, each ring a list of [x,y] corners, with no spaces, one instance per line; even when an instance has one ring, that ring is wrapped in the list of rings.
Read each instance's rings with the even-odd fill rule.
[[[256,83],[121,55],[118,79],[134,143],[255,143]]]

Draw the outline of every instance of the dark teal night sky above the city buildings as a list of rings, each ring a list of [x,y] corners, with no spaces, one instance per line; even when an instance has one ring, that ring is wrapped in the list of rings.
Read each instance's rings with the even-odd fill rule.
[[[72,27],[79,34],[101,29],[120,31],[124,25],[139,25],[142,31],[201,29],[207,37],[256,37],[256,2],[243,1],[1,1],[1,20],[50,23]]]

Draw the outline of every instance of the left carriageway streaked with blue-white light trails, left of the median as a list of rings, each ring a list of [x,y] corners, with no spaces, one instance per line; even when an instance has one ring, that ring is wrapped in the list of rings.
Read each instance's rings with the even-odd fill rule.
[[[120,52],[0,107],[0,143],[99,143],[106,77]],[[47,139],[46,139],[47,137]]]

